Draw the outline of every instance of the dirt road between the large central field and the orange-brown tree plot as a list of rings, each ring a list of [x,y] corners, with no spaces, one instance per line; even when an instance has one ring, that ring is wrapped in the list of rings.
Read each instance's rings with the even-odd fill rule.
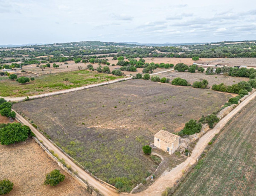
[[[79,176],[86,180],[91,186],[98,189],[102,194],[105,196],[118,196],[119,193],[112,187],[109,187],[105,184],[102,184],[101,182],[94,179],[92,176],[90,176],[88,173],[86,173],[84,170],[82,170],[79,166],[77,166],[72,160],[70,160],[64,153],[62,153],[57,147],[55,147],[47,138],[44,137],[35,127],[33,127],[31,124],[29,124],[26,119],[24,119],[20,114],[16,112],[16,118],[22,122],[23,124],[30,127],[33,133],[35,133],[36,137],[43,141],[43,144],[49,149],[53,150],[55,153],[58,154],[60,159],[64,159],[66,164],[70,165],[74,171],[78,171]]]

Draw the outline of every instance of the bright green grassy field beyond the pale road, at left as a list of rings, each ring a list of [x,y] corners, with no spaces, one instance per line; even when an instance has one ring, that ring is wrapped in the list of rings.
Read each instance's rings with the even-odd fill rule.
[[[1,77],[2,78],[2,77]],[[64,81],[68,78],[68,81]],[[87,84],[110,81],[123,76],[113,76],[87,70],[62,72],[35,77],[35,81],[20,84],[15,80],[0,80],[0,96],[20,97],[43,94],[61,89],[71,89]]]

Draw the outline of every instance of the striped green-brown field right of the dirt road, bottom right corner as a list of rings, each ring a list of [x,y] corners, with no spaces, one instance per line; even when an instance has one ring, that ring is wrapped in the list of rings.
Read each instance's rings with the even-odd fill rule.
[[[256,195],[256,100],[227,124],[176,196]]]

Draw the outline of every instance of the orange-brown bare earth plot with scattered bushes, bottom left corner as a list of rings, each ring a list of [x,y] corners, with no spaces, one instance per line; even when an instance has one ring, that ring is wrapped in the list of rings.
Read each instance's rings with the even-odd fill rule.
[[[65,180],[56,187],[44,185],[45,175],[54,169],[60,170]],[[0,179],[7,178],[14,183],[8,196],[89,196],[87,190],[61,170],[31,138],[18,144],[0,145],[0,171]]]

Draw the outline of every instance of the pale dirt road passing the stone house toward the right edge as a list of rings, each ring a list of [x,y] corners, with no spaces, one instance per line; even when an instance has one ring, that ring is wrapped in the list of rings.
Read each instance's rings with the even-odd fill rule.
[[[133,194],[137,196],[160,196],[161,193],[166,189],[166,187],[172,187],[176,180],[178,180],[183,175],[183,170],[185,171],[190,165],[196,162],[196,159],[203,153],[208,142],[219,133],[220,130],[225,126],[225,124],[245,105],[249,103],[250,100],[256,97],[256,92],[245,99],[241,104],[239,104],[234,110],[232,110],[228,115],[222,118],[215,127],[203,135],[197,142],[194,150],[190,157],[186,159],[183,163],[177,165],[171,171],[165,171],[159,179],[157,179],[154,184],[152,184],[148,189],[141,193]],[[122,195],[130,195],[128,193],[122,193]]]

